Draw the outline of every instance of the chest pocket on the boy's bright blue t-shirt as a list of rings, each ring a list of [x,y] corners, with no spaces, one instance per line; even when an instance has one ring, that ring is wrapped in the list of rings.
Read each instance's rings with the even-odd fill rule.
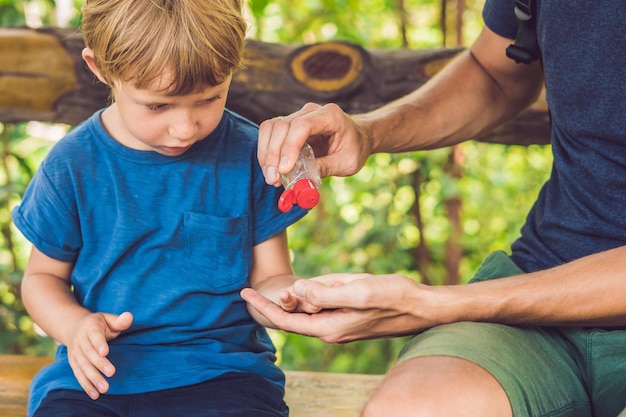
[[[247,216],[185,212],[184,229],[187,279],[214,293],[243,287],[251,262]]]

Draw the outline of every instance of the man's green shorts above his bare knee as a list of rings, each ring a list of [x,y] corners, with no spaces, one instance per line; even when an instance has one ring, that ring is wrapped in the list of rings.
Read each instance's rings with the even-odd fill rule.
[[[494,252],[472,282],[519,273],[504,252]],[[490,372],[515,417],[626,417],[626,328],[454,323],[413,337],[398,362],[433,355],[466,359]]]

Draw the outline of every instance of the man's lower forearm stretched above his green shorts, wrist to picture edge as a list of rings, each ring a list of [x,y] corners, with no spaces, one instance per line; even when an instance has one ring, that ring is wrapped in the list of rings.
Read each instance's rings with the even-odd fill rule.
[[[620,247],[544,271],[450,287],[451,321],[623,327],[625,271],[626,247]]]

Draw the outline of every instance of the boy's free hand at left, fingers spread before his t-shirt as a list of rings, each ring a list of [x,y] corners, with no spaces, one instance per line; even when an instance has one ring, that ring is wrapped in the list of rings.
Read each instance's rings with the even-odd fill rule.
[[[74,328],[67,355],[72,371],[80,386],[92,399],[109,390],[104,378],[115,374],[115,366],[106,358],[109,354],[107,341],[115,339],[130,328],[133,315],[92,313],[85,316]]]

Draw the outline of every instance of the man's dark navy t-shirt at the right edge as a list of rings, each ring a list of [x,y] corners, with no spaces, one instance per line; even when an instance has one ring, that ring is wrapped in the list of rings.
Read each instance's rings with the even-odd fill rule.
[[[512,246],[526,271],[626,244],[624,0],[537,6],[554,164]],[[485,23],[515,38],[513,8],[514,0],[487,0]]]

